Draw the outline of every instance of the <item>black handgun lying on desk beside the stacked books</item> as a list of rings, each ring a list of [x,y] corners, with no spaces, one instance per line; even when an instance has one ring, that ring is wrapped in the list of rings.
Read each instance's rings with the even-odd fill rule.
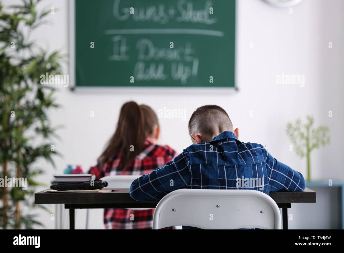
[[[106,181],[89,180],[86,182],[58,182],[50,186],[51,190],[67,191],[67,190],[100,190],[107,186]]]

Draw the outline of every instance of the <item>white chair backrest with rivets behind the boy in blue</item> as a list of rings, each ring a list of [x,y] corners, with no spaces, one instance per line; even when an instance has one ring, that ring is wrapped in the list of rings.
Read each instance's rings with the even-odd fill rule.
[[[164,196],[153,229],[185,225],[201,229],[280,229],[275,201],[256,190],[179,189]]]

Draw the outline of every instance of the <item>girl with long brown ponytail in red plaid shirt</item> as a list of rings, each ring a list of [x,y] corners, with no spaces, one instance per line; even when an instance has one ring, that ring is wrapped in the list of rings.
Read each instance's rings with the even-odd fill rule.
[[[157,145],[159,133],[158,117],[149,106],[125,103],[114,135],[89,173],[96,175],[96,179],[109,175],[147,175],[164,166],[176,152],[169,146]],[[131,214],[134,220],[130,220]],[[105,209],[104,224],[106,229],[152,229],[153,214],[154,209]]]

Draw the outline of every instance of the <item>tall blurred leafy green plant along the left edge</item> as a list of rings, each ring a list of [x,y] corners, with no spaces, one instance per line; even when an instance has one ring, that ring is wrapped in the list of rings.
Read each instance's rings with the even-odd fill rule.
[[[43,169],[34,166],[44,158],[54,166],[57,153],[51,146],[56,138],[47,112],[58,108],[53,94],[55,88],[41,83],[41,75],[61,74],[59,52],[51,54],[29,40],[31,32],[43,24],[49,11],[37,13],[40,0],[22,0],[18,6],[3,10],[0,2],[0,178],[27,178],[28,189],[0,187],[2,206],[0,225],[3,229],[32,229],[42,225],[32,214],[22,209],[34,207],[35,187],[42,185],[35,177]]]

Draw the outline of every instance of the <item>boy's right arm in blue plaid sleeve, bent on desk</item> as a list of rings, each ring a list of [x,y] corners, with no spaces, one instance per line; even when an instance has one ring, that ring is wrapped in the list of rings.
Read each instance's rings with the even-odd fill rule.
[[[277,161],[268,151],[266,153],[270,191],[303,191],[306,188],[306,182],[300,172]]]

